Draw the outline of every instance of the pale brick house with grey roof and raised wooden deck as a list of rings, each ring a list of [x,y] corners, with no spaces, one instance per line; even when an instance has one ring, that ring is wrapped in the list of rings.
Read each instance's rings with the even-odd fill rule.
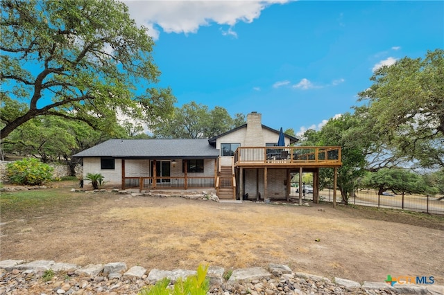
[[[220,199],[289,199],[291,179],[313,172],[314,201],[319,168],[341,166],[341,147],[292,146],[298,138],[262,125],[252,112],[247,123],[210,139],[111,139],[79,152],[83,175],[101,173],[122,189],[209,190]],[[336,173],[335,173],[336,176]],[[336,179],[336,177],[335,177]],[[302,192],[299,193],[301,199]]]

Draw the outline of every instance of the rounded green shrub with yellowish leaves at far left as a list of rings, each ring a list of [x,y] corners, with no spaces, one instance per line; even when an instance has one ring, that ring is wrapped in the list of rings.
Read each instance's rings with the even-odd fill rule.
[[[50,181],[53,176],[53,168],[35,158],[8,163],[6,170],[12,184],[40,186],[44,181]]]

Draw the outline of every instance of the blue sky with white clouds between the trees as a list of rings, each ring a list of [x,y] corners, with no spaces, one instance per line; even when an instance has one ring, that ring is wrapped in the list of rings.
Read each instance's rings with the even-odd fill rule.
[[[297,133],[352,111],[377,66],[444,48],[443,1],[125,3],[178,107],[257,111]]]

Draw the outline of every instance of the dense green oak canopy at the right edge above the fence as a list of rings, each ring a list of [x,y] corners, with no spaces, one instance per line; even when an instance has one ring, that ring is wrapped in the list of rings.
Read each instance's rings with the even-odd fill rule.
[[[375,71],[373,85],[359,93],[368,101],[366,116],[377,118],[375,131],[423,167],[444,167],[443,69],[443,49],[423,59],[404,57]]]

